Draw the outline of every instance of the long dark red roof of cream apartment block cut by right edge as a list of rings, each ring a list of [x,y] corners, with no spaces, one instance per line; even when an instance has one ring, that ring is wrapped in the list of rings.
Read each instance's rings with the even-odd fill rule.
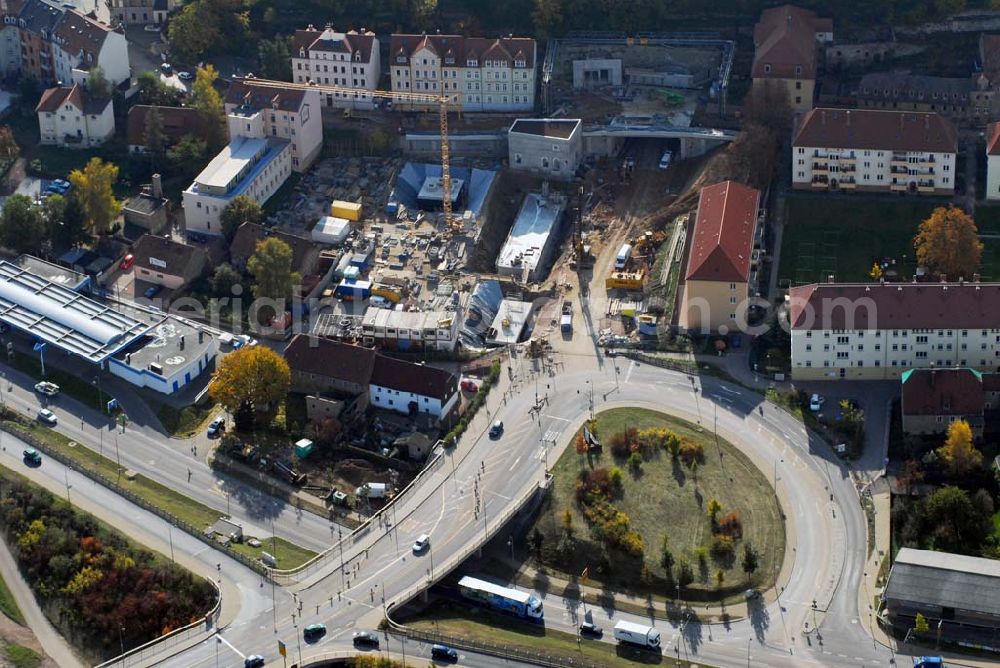
[[[983,329],[1000,313],[1000,283],[812,283],[789,297],[798,330]]]

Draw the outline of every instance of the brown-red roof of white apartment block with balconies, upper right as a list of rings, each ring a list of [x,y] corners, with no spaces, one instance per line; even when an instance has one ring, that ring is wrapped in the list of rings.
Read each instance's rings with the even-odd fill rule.
[[[934,112],[817,108],[806,112],[794,146],[957,153],[958,132]]]

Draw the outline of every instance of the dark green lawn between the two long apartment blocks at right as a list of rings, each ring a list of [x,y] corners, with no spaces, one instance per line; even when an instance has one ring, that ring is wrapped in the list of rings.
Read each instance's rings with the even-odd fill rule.
[[[937,206],[903,198],[789,196],[779,284],[822,282],[830,274],[838,281],[870,282],[872,264],[884,258],[895,258],[901,276],[909,279],[915,268],[913,237]]]

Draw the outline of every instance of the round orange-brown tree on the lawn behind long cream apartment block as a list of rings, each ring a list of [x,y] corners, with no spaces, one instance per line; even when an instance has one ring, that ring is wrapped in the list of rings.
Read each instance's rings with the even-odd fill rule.
[[[938,207],[920,223],[913,238],[917,262],[931,273],[952,280],[971,277],[979,271],[983,255],[978,232],[969,214],[958,207]]]

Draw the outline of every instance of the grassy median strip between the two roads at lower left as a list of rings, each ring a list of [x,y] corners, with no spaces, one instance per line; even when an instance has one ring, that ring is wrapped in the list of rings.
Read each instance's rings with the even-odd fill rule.
[[[105,452],[108,456],[102,457],[100,453],[94,452],[93,450],[82,445],[70,447],[69,444],[72,442],[70,439],[58,432],[43,427],[41,424],[33,422],[27,426],[19,426],[34,436],[41,438],[46,445],[73,459],[87,470],[100,473],[112,481],[119,480],[118,464],[114,459],[109,458],[114,457],[115,453],[113,432],[105,433],[104,440],[107,448]],[[122,475],[119,484],[123,489],[127,489],[133,494],[142,497],[157,508],[167,511],[171,515],[196,528],[206,527],[215,522],[222,515],[220,511],[202,505],[197,501],[184,496],[180,492],[174,491],[166,485],[162,485],[155,480],[150,480],[144,475],[136,475],[132,480],[129,480]],[[270,544],[270,539],[265,541],[261,538],[261,542]],[[245,544],[234,544],[233,549],[236,552],[242,552],[256,557],[260,555],[260,549],[266,548],[255,549]],[[281,538],[277,541],[276,550],[278,551],[278,554],[275,554],[274,556],[278,559],[278,563],[282,565],[282,568],[293,568],[294,566],[308,561],[316,554],[315,552],[299,547],[293,543],[289,543]],[[267,551],[270,552],[270,550]]]

